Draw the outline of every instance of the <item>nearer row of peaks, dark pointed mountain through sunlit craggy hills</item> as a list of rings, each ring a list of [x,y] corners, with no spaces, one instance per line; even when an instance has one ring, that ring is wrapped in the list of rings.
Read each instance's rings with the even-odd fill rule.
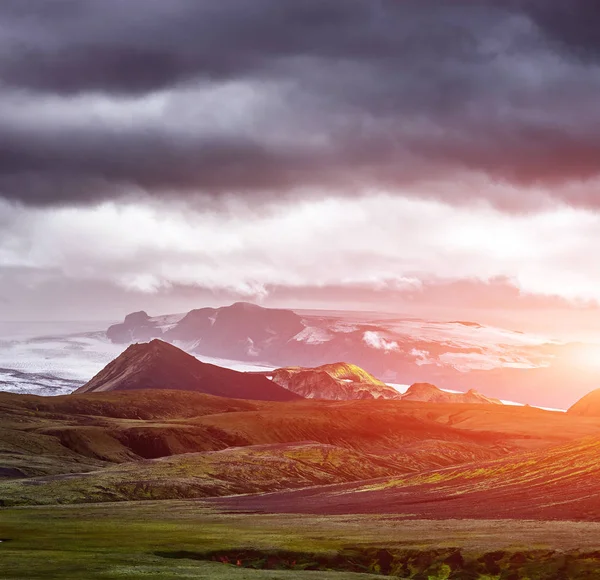
[[[393,399],[437,403],[498,403],[469,391],[448,393],[415,384],[405,395],[360,367],[335,363],[317,368],[282,368],[272,373],[240,373],[207,364],[159,339],[134,344],[76,394],[168,389],[263,401]]]

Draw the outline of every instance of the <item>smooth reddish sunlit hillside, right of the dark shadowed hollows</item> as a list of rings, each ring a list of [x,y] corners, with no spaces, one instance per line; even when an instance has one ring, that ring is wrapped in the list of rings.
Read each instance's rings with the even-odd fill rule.
[[[539,409],[404,401],[301,401],[193,421],[252,444],[319,441],[369,453],[400,452],[424,440],[470,441],[513,450],[550,446],[600,431],[586,421]]]

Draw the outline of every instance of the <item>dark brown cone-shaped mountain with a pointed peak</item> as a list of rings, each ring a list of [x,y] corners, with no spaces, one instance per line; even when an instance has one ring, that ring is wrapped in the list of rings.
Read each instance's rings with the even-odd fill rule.
[[[76,393],[137,389],[175,389],[265,401],[301,398],[266,377],[200,362],[157,339],[130,346]]]

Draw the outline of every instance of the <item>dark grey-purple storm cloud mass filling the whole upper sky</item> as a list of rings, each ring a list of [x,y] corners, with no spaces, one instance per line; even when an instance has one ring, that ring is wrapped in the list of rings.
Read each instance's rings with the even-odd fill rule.
[[[423,182],[482,174],[525,186],[521,199],[494,199],[506,206],[527,206],[534,185],[594,205],[600,194],[577,183],[600,173],[598,10],[591,0],[565,6],[5,0],[0,194],[31,204],[132,189],[422,194]],[[194,99],[227,83],[264,101],[247,127],[224,129],[240,103],[207,110]],[[157,92],[179,105],[147,124],[94,108],[94,99],[118,107]],[[431,191],[450,201],[484,195]]]

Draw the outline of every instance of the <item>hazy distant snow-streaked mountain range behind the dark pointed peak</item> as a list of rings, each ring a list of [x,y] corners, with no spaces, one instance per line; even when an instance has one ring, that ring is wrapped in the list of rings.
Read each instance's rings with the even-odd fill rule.
[[[465,392],[485,389],[486,395],[499,399],[566,406],[553,399],[561,391],[551,387],[562,384],[569,372],[552,366],[565,352],[569,356],[567,346],[476,322],[296,312],[240,302],[158,317],[137,312],[111,326],[106,335],[116,344],[159,338],[200,357],[271,368],[317,368],[348,361],[384,383],[429,383]],[[339,384],[322,379],[339,390]],[[296,377],[293,382],[302,382],[298,388],[310,393],[306,380],[313,379]],[[540,390],[542,384],[549,385],[547,390]],[[357,397],[368,396],[356,385],[348,388],[357,388]],[[591,388],[582,383],[575,394]],[[395,395],[384,388],[378,396]]]

